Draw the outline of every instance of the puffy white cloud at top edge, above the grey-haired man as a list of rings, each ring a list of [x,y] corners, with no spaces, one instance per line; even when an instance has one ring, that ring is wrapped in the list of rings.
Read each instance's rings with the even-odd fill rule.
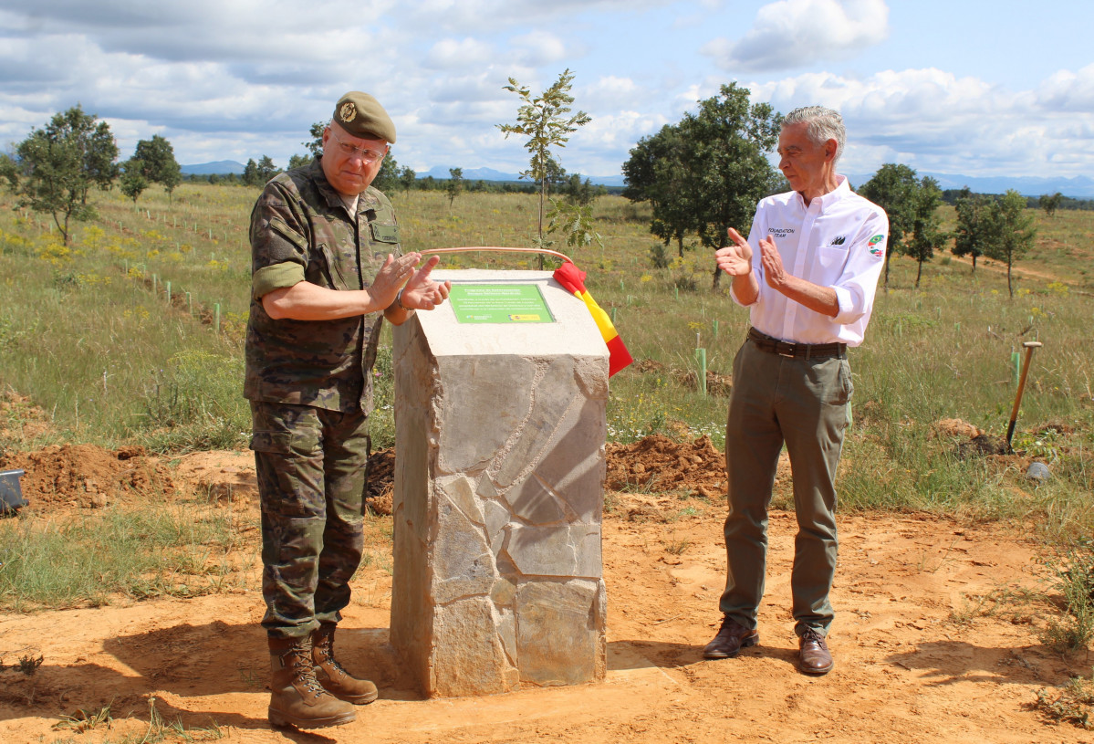
[[[778,0],[764,5],[743,38],[702,47],[723,70],[789,70],[847,59],[888,35],[884,0]]]

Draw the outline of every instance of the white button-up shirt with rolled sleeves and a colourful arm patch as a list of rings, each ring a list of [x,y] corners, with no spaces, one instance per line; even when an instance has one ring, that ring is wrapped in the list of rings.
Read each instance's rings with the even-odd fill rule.
[[[757,205],[748,233],[753,272],[759,283],[759,295],[749,305],[756,330],[799,344],[862,342],[885,265],[888,217],[852,191],[845,176],[837,176],[837,184],[834,191],[811,199],[808,207],[798,191],[769,196]],[[836,317],[810,310],[767,286],[761,237],[775,241],[788,274],[836,291]],[[743,304],[732,290],[730,294]]]

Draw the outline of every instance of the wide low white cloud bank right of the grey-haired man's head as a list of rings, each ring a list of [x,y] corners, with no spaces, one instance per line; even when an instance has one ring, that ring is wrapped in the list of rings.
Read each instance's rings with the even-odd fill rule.
[[[936,69],[886,70],[863,80],[811,73],[750,88],[754,100],[782,113],[811,104],[840,111],[848,127],[841,167],[849,172],[903,162],[966,175],[1080,175],[1073,153],[1085,151],[1087,163],[1094,154],[1090,107],[1074,111],[1084,77],[1094,77],[1094,66],[1017,92]]]

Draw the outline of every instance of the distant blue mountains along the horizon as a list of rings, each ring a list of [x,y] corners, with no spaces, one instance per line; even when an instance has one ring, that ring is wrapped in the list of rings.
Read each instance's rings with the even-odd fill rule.
[[[197,165],[183,165],[184,174],[193,175],[228,175],[243,173],[243,164],[234,160],[219,160],[214,163],[199,163]],[[490,167],[473,167],[463,170],[465,181],[520,181],[519,173],[502,173]],[[1041,194],[1056,194],[1059,191],[1063,196],[1073,199],[1094,199],[1094,178],[1087,176],[1075,176],[1074,178],[1033,178],[1028,176],[963,176],[951,173],[929,173],[918,172],[919,176],[931,176],[939,182],[942,189],[964,188],[968,186],[977,194],[1002,194],[1009,188],[1017,189],[1023,196],[1040,196]],[[449,166],[438,165],[424,173],[419,173],[419,178],[433,176],[439,181],[449,179]],[[853,186],[861,186],[873,176],[870,174],[849,174]],[[624,177],[618,176],[582,176],[589,178],[597,186],[626,186]]]

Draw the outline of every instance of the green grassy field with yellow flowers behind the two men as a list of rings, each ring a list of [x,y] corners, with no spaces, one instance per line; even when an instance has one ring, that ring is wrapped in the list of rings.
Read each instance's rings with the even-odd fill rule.
[[[0,446],[138,443],[176,453],[245,446],[246,229],[256,196],[256,189],[184,184],[173,202],[156,193],[135,207],[116,193],[100,195],[101,219],[81,225],[68,248],[42,216],[13,210],[10,196],[0,196],[0,387],[28,396],[51,423]],[[451,208],[440,193],[393,200],[407,249],[531,244],[533,196],[468,194]],[[696,390],[695,350],[706,349],[710,372],[728,375],[747,313],[724,291],[711,291],[707,251],[676,257],[670,248],[671,265],[654,268],[656,241],[641,206],[602,197],[594,217],[604,246],[573,258],[639,362],[612,380],[610,438],[707,434],[721,445],[726,400]],[[974,272],[948,254],[936,256],[913,289],[916,264],[892,259],[866,341],[851,354],[845,508],[1024,519],[1052,534],[1094,526],[1087,269],[1094,213],[1037,212],[1036,219],[1037,245],[1016,266],[1013,299],[1005,270],[984,260]],[[473,254],[444,264],[529,268],[534,261]],[[1051,479],[1036,489],[1013,461],[961,456],[959,442],[939,426],[959,418],[1003,437],[1014,354],[1031,339],[1044,347],[1033,359],[1014,443],[1051,468]],[[379,446],[392,440],[389,399],[385,374]],[[18,409],[9,408],[9,417]],[[0,421],[0,429],[15,431],[18,423]]]

